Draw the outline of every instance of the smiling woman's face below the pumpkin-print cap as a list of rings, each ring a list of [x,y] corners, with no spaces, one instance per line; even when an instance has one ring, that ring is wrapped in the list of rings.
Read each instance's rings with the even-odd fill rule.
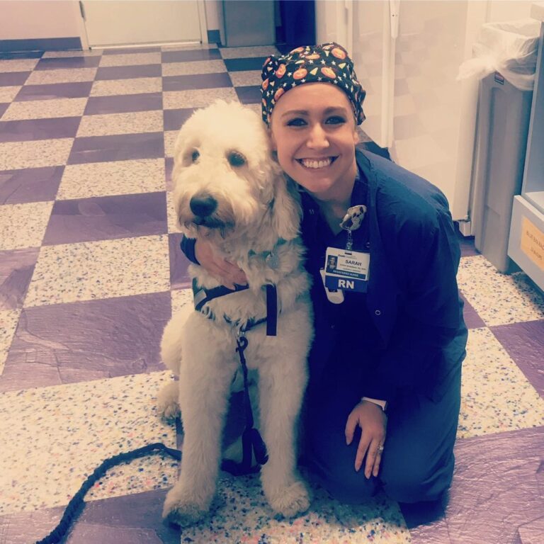
[[[273,109],[271,137],[283,171],[317,200],[351,196],[358,136],[344,91],[328,83],[290,89]]]

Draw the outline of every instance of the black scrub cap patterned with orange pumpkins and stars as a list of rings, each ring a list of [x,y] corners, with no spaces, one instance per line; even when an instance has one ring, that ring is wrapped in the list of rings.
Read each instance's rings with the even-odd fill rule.
[[[338,86],[353,106],[357,125],[365,120],[363,100],[366,91],[357,80],[348,52],[334,42],[297,47],[283,57],[268,57],[261,74],[263,121],[270,125],[276,102],[289,89],[304,83],[322,81]]]

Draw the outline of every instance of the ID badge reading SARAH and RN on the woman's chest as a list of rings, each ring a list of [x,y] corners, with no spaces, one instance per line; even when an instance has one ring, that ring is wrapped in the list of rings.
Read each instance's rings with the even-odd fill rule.
[[[370,254],[327,247],[325,257],[325,287],[366,293]]]

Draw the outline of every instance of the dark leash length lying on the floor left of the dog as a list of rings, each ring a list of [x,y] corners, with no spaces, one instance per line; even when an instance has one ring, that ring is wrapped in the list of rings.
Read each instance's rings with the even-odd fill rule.
[[[62,542],[64,537],[67,535],[68,530],[74,519],[81,514],[84,506],[84,497],[86,493],[93,487],[93,485],[106,474],[108,468],[118,465],[119,463],[124,463],[125,461],[131,461],[139,457],[145,457],[149,453],[167,453],[176,460],[181,459],[181,451],[174,450],[172,448],[167,448],[163,443],[157,442],[154,444],[149,444],[143,448],[138,448],[137,450],[128,451],[125,453],[119,453],[118,455],[113,455],[113,457],[103,461],[94,472],[83,482],[83,485],[79,488],[79,491],[72,497],[66,509],[64,509],[64,514],[59,524],[42,540],[38,540],[36,544],[58,544]]]

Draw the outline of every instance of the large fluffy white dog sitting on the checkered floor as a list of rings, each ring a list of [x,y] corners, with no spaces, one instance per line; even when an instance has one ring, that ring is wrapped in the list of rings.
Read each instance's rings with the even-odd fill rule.
[[[266,285],[277,292],[277,334],[251,328],[244,356],[259,375],[259,431],[268,448],[261,467],[264,494],[285,516],[310,499],[296,470],[297,419],[312,339],[310,280],[302,267],[300,206],[292,182],[271,158],[259,116],[238,103],[216,102],[181,128],[174,157],[174,205],[188,237],[207,237],[246,273],[249,288],[187,307],[164,329],[162,358],[179,382],[159,395],[159,411],[181,410],[181,475],[163,516],[180,526],[201,519],[215,495],[229,392],[240,366],[237,335],[267,315]],[[203,288],[220,285],[202,267],[189,272]],[[276,313],[276,312],[273,312]]]

